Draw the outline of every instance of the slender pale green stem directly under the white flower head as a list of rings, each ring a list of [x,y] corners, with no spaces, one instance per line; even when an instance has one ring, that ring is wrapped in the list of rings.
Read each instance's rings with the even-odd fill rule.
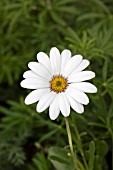
[[[73,149],[72,136],[71,136],[71,130],[70,130],[68,118],[65,118],[65,123],[66,123],[66,129],[67,129],[67,134],[68,134],[68,141],[69,141],[71,156],[72,156],[72,158],[73,158],[73,162],[74,162],[74,165],[75,165],[75,169],[76,169],[76,170],[79,170],[79,169],[78,169],[78,166],[77,166],[76,152],[74,152],[74,149]]]

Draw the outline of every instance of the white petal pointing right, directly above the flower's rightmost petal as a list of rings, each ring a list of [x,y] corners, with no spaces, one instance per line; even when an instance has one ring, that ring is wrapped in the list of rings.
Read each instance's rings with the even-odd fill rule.
[[[95,77],[93,71],[81,71],[76,74],[72,74],[68,77],[68,82],[81,82],[85,80],[90,80]]]

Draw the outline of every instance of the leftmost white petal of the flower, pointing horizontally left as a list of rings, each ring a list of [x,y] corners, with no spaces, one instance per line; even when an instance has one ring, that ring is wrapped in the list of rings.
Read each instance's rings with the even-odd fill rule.
[[[24,79],[20,83],[21,87],[27,89],[38,89],[38,88],[46,88],[50,86],[48,81],[37,79],[37,78],[28,78]]]

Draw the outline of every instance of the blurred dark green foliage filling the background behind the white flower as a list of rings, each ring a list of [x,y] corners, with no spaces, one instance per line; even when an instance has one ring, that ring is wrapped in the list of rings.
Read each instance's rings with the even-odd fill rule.
[[[20,87],[27,63],[53,46],[91,62],[98,93],[88,95],[84,114],[71,111],[73,144],[81,163],[81,147],[87,162],[93,154],[89,170],[111,170],[113,0],[0,1],[0,170],[72,170],[63,162],[67,158],[61,148],[69,152],[63,116],[51,121],[48,110],[39,114],[36,104],[26,106],[29,90]]]

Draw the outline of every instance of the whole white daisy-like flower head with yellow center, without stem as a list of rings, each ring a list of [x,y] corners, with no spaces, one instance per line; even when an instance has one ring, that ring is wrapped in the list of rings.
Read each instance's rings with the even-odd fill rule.
[[[38,62],[30,62],[30,70],[23,74],[21,86],[33,91],[26,97],[25,104],[38,102],[37,112],[49,107],[49,116],[55,120],[61,112],[69,116],[70,106],[78,113],[84,112],[89,103],[85,93],[96,93],[97,88],[85,82],[95,77],[92,71],[83,71],[90,63],[81,55],[71,56],[67,49],[60,54],[56,47],[51,48],[50,57],[44,52],[37,54]]]

